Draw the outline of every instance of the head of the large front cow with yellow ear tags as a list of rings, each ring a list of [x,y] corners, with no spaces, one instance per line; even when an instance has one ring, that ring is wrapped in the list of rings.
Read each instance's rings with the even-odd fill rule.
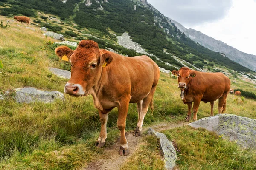
[[[99,50],[92,40],[82,40],[74,51],[66,46],[58,47],[55,53],[71,63],[71,78],[64,88],[71,96],[87,96],[99,81],[102,69],[112,60],[108,51]]]

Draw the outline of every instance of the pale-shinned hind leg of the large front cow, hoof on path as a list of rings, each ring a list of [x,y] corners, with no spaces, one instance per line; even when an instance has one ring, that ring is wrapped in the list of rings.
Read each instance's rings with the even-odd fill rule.
[[[153,103],[152,103],[153,95],[154,95],[154,92],[156,91],[156,88],[157,88],[157,86],[152,87],[148,96],[142,100],[143,102],[142,102],[142,107],[141,107],[141,111],[140,111],[140,117],[138,120],[137,127],[134,130],[134,136],[140,136],[140,133],[142,130],[142,125],[143,125],[143,120],[148,112],[148,106],[149,106],[149,104],[153,105]]]

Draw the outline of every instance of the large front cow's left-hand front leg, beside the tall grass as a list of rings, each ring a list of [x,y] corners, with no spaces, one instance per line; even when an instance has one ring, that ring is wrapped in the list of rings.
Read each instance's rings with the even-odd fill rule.
[[[103,114],[102,111],[99,110],[99,119],[101,122],[101,129],[99,133],[99,138],[95,143],[96,147],[103,147],[106,143],[107,138],[107,121],[108,121],[108,114]]]

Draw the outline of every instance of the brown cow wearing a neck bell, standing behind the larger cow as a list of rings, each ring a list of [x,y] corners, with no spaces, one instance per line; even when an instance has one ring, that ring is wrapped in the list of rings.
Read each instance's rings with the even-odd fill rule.
[[[223,73],[204,73],[182,67],[179,71],[173,70],[172,74],[178,76],[178,87],[184,91],[184,104],[188,105],[189,111],[186,121],[191,118],[193,105],[193,120],[197,120],[197,112],[200,101],[211,102],[211,116],[213,116],[214,101],[219,99],[218,113],[224,113],[226,98],[230,90],[230,79]]]

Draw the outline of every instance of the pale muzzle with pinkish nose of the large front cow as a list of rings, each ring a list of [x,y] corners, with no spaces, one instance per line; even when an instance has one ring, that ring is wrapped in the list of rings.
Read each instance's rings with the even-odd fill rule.
[[[84,90],[80,84],[67,83],[64,88],[64,92],[66,94],[70,94],[70,96],[83,96]]]

